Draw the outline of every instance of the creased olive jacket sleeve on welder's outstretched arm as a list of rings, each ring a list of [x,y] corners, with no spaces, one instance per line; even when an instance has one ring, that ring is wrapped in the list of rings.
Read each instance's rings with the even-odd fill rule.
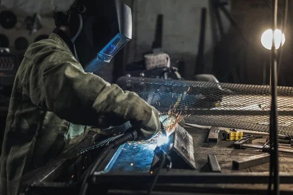
[[[99,128],[128,120],[146,124],[153,109],[135,93],[85,73],[62,51],[35,62],[27,70],[26,83],[33,104],[75,124]]]

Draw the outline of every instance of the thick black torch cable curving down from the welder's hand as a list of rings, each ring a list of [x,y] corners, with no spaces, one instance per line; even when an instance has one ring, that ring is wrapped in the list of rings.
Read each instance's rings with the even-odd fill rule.
[[[82,183],[82,186],[81,186],[81,190],[80,190],[79,195],[85,195],[86,194],[86,190],[88,188],[88,183],[87,183],[88,177],[91,176],[91,175],[93,175],[93,173],[100,166],[100,164],[105,159],[105,157],[109,154],[109,152],[113,148],[116,148],[116,147],[118,147],[118,146],[126,143],[127,141],[134,141],[134,140],[136,140],[137,137],[138,137],[138,133],[132,127],[130,129],[126,130],[126,133],[123,136],[118,137],[117,139],[111,141],[109,143],[109,145],[106,146],[105,149],[102,151],[101,155],[96,158],[96,160],[93,163],[93,166],[91,168],[89,168],[88,171],[86,172],[86,175],[84,176],[84,180],[83,180],[83,183]]]

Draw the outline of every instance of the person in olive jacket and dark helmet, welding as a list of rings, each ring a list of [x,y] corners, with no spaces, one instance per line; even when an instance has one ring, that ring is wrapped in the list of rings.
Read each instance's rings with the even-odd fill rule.
[[[131,10],[119,0],[76,0],[55,12],[57,28],[33,43],[15,78],[0,157],[0,194],[16,195],[21,177],[78,144],[94,126],[126,121],[149,139],[158,111],[135,93],[93,74],[131,39]]]

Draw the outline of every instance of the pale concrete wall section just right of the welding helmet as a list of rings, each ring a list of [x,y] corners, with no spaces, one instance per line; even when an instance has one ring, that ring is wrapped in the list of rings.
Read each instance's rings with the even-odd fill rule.
[[[128,62],[143,59],[143,54],[151,51],[155,37],[158,14],[164,15],[162,51],[171,57],[171,65],[178,66],[179,60],[185,61],[185,77],[193,78],[195,60],[200,36],[201,9],[207,8],[206,24],[206,72],[211,72],[212,65],[212,25],[210,20],[209,0],[135,0],[134,37],[130,44],[131,54]],[[221,14],[224,28],[229,22]]]

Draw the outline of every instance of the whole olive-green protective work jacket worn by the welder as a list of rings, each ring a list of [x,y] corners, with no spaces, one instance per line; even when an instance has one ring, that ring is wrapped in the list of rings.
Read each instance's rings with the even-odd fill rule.
[[[65,35],[65,34],[64,34]],[[33,43],[17,72],[0,156],[0,194],[16,195],[21,176],[79,143],[85,125],[99,128],[158,112],[135,93],[85,73],[60,35]],[[153,122],[153,121],[152,121]],[[159,122],[159,119],[158,119]],[[159,129],[159,123],[151,124]],[[154,132],[142,130],[140,139]]]

